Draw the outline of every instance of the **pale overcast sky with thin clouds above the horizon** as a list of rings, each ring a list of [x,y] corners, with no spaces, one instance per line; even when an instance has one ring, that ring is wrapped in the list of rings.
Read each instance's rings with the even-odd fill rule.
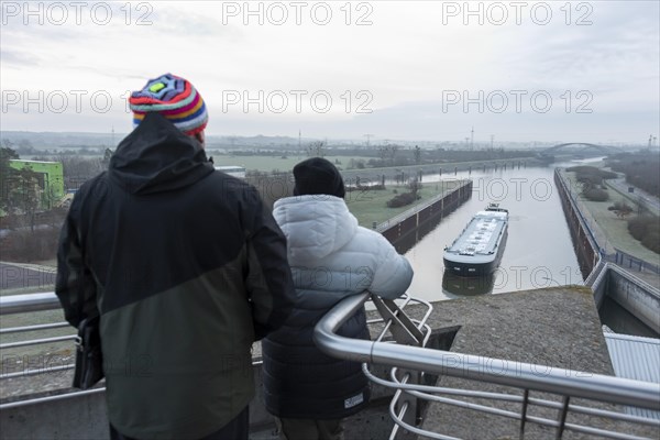
[[[208,134],[631,142],[660,128],[651,1],[2,1],[2,130],[129,132],[173,73]]]

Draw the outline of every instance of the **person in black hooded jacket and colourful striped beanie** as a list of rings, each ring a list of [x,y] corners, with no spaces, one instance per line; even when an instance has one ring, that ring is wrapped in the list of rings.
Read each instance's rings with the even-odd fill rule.
[[[72,202],[56,294],[73,326],[100,314],[112,439],[248,439],[252,343],[295,301],[285,237],[207,161],[189,81],[163,75],[130,105],[135,130]]]

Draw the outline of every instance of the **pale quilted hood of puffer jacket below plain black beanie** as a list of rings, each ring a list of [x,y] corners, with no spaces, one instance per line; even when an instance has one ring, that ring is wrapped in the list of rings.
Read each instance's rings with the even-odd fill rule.
[[[273,217],[287,239],[292,265],[309,264],[346,245],[358,231],[358,219],[343,199],[307,195],[279,199]]]

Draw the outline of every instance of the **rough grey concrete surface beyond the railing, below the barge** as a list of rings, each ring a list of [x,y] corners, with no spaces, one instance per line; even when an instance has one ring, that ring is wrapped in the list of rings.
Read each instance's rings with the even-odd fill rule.
[[[587,373],[614,375],[593,294],[585,287],[561,287],[510,294],[461,298],[435,304],[429,323],[433,329],[460,327],[449,351],[514,362],[548,365]],[[548,371],[548,370],[544,370]],[[544,371],[539,371],[542,375]],[[521,395],[517,388],[441,377],[440,386],[480,389]],[[530,397],[560,402],[548,393],[530,393]],[[470,402],[493,405],[490,400]],[[572,402],[593,406],[592,402]],[[497,404],[519,413],[519,404]],[[598,404],[601,408],[614,406]],[[558,411],[534,407],[530,415],[557,419]],[[603,419],[600,419],[603,420]],[[568,422],[584,422],[569,415]],[[615,429],[650,438],[660,438],[658,429],[639,429],[602,421],[603,429]],[[519,437],[519,422],[470,409],[433,403],[422,427],[427,430],[462,439],[514,439]],[[554,438],[554,429],[528,424],[526,438]],[[594,438],[564,433],[564,439]]]

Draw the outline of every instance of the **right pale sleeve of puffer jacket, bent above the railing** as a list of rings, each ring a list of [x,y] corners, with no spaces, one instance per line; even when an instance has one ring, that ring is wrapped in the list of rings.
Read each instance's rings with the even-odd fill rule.
[[[413,282],[413,267],[404,255],[382,235],[377,237],[378,262],[374,270],[373,282],[370,286],[372,294],[383,298],[395,299],[406,293]]]

